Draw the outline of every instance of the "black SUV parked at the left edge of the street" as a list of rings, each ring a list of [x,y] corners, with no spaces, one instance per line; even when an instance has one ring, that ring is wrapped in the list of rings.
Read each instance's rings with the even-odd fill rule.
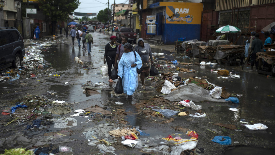
[[[25,56],[24,42],[14,27],[0,27],[0,70],[21,66]]]

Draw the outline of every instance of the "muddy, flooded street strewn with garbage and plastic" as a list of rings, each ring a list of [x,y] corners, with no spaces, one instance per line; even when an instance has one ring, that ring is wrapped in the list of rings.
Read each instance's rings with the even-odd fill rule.
[[[40,57],[43,61],[25,59],[22,66],[25,65],[27,69],[21,70],[19,79],[0,83],[1,111],[10,113],[0,115],[0,153],[14,146],[33,151],[44,148],[53,154],[62,154],[64,148],[72,150],[64,151],[63,154],[218,155],[272,154],[275,151],[274,77],[248,71],[246,66],[242,71],[240,66],[196,65],[200,63],[197,58],[185,58],[183,53],[170,53],[165,46],[160,48],[151,45],[159,75],[145,78],[145,89],[141,88],[138,76],[138,89],[132,100],[129,100],[125,94],[114,93],[117,80],[109,82],[108,76],[101,75],[109,36],[99,32],[92,35],[94,44],[90,55],[82,49],[82,43],[81,48],[78,48],[75,40],[75,46],[72,46],[71,39],[66,39],[65,36],[54,41],[36,43],[30,40],[25,43],[29,51],[41,51],[27,57]],[[37,46],[43,42],[51,44]],[[41,55],[38,56],[38,53]],[[75,67],[76,56],[83,61],[84,67]],[[175,60],[181,64],[171,63]],[[42,65],[43,69],[32,68],[33,64]],[[227,69],[230,74],[236,74],[240,78],[221,78],[215,72],[218,69]],[[165,78],[173,81],[174,75],[181,78],[180,82],[177,81],[177,87],[182,87],[169,94],[160,92]],[[239,103],[222,102],[224,99],[219,99],[219,102],[199,100],[198,98],[203,98],[203,94],[194,95],[198,91],[181,94],[188,86],[190,89],[193,86],[194,90],[201,89],[193,83],[184,85],[190,77],[207,79],[209,83],[225,88],[230,97],[239,99]],[[93,91],[89,92],[87,88]],[[176,98],[185,95],[191,95],[195,105],[202,106],[201,111],[179,104],[183,99]],[[208,97],[211,98],[211,95]],[[12,114],[9,110],[16,105],[20,106]],[[26,107],[21,107],[22,105]],[[230,108],[235,111],[229,110]],[[176,113],[171,114],[168,110]],[[179,112],[187,115],[179,116]],[[206,116],[193,117],[196,112]],[[40,123],[35,124],[34,121],[38,119]],[[223,125],[215,125],[217,123]],[[245,126],[257,123],[268,128],[249,130]],[[225,125],[233,127],[227,128]],[[122,130],[137,135],[135,141],[138,143],[134,147],[121,143],[122,136],[127,136]],[[109,131],[116,132],[110,134]],[[194,132],[190,134],[192,131]],[[230,144],[213,142],[215,136],[230,137]],[[222,139],[221,143],[224,141]],[[53,150],[57,148],[59,151],[54,153]]]

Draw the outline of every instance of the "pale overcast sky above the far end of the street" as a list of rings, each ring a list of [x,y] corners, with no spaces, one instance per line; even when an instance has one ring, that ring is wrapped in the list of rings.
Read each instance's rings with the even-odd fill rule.
[[[116,4],[129,4],[129,0],[116,0]],[[109,8],[114,4],[114,0],[109,0]],[[75,12],[98,13],[100,10],[108,8],[108,0],[80,0],[80,5]],[[75,16],[75,15],[73,15]],[[76,16],[79,17],[79,16]],[[91,17],[90,17],[91,18]]]

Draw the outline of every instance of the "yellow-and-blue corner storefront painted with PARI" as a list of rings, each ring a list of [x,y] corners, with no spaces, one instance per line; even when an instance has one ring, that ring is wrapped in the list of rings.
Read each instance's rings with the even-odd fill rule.
[[[155,23],[147,20],[146,34],[161,35],[164,44],[174,44],[181,37],[200,40],[202,3],[158,2],[151,4],[150,9],[153,10],[149,18],[155,18]]]

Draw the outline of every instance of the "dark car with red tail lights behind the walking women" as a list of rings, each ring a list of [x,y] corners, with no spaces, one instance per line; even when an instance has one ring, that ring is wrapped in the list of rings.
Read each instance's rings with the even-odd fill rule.
[[[119,43],[121,43],[123,36],[126,36],[128,38],[128,42],[137,43],[137,34],[132,28],[122,27],[119,29],[119,32],[116,33],[116,36]]]

